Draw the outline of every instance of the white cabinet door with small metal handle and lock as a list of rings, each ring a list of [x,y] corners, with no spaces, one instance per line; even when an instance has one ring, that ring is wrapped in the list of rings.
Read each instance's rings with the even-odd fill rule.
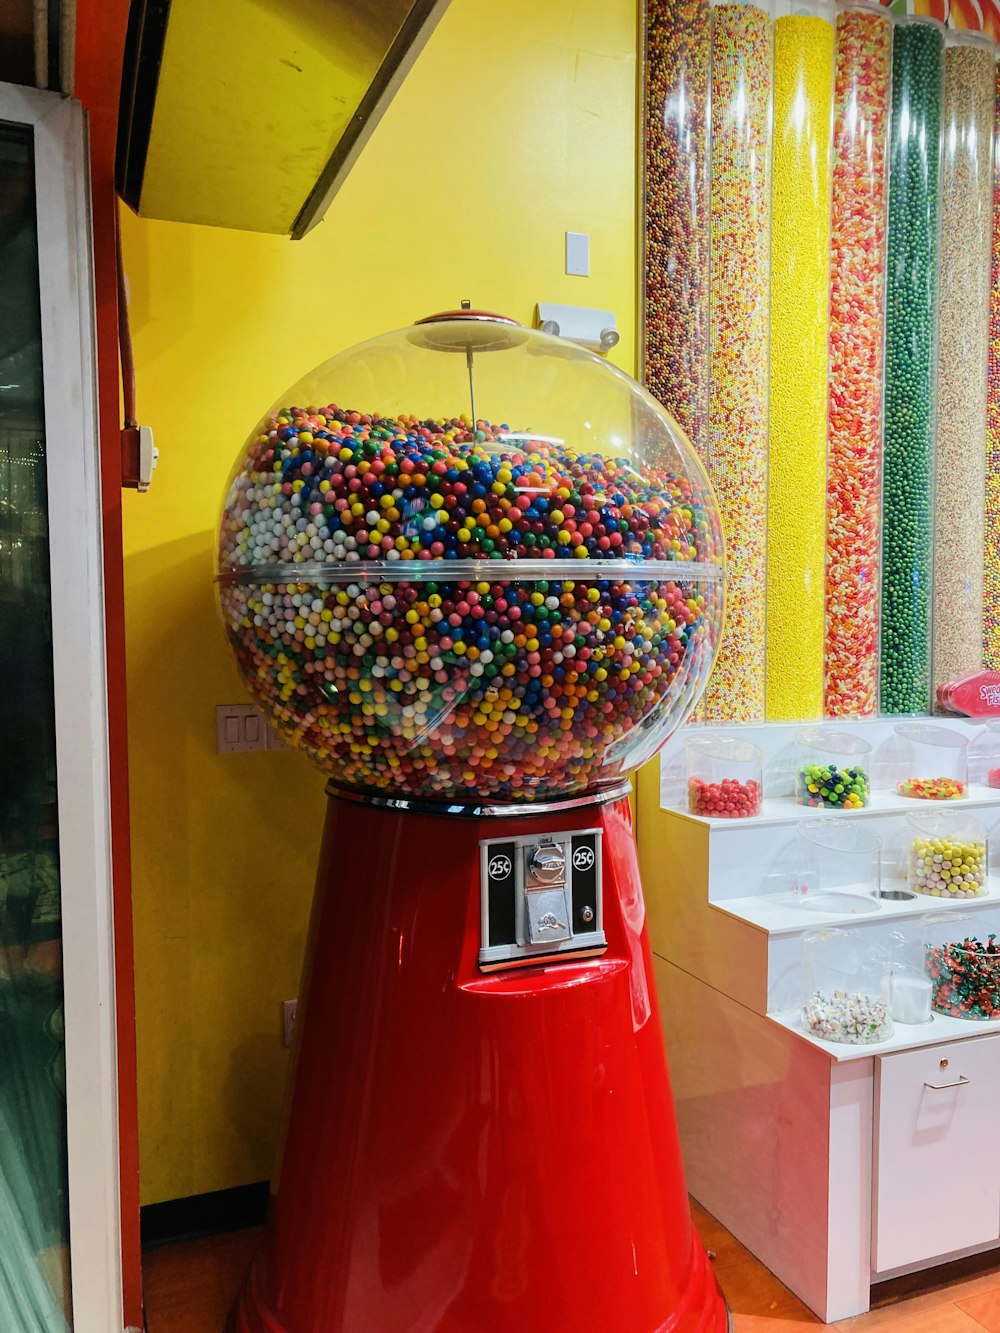
[[[1000,1237],[1000,1034],[876,1060],[876,1273]]]

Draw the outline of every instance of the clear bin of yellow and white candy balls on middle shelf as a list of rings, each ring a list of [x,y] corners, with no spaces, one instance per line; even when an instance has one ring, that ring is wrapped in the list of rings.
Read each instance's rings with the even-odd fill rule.
[[[969,814],[908,814],[907,884],[935,898],[979,898],[989,892],[987,828]]]

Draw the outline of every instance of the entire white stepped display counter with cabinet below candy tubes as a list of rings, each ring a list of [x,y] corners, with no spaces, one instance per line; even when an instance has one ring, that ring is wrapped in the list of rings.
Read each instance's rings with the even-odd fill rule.
[[[659,770],[653,762],[640,774],[637,824],[691,1193],[832,1322],[865,1312],[875,1282],[1000,1246],[1000,1022],[936,1013],[896,1022],[879,1044],[821,1040],[800,1017],[803,938],[829,926],[860,948],[888,948],[893,934],[919,934],[929,912],[955,913],[956,937],[1000,934],[1000,876],[975,898],[807,910],[789,890],[796,825],[823,814],[865,821],[885,848],[883,889],[905,892],[905,816],[975,809],[997,842],[1000,790],[973,770],[964,800],[897,796],[892,720],[824,725],[869,741],[865,808],[796,805],[797,728],[768,724],[739,729],[764,756],[757,817],[685,812],[681,733]],[[955,718],[940,725],[981,732]],[[933,1198],[949,1200],[947,1224],[928,1208]]]

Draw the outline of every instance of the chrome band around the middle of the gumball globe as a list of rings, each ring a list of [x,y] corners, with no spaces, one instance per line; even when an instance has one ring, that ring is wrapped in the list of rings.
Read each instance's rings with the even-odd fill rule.
[[[223,584],[349,584],[357,583],[459,583],[497,580],[524,583],[537,579],[567,579],[599,583],[609,579],[632,579],[653,583],[685,580],[716,583],[723,577],[721,565],[693,564],[684,560],[356,560],[336,564],[320,560],[291,561],[273,565],[245,565],[223,569],[216,576]]]

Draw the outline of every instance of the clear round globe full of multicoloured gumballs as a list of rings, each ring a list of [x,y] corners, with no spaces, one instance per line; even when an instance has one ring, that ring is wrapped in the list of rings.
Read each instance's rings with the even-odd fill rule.
[[[343,788],[456,804],[617,785],[697,701],[723,539],[629,376],[452,312],[313,371],[227,488],[219,585],[247,685]]]

